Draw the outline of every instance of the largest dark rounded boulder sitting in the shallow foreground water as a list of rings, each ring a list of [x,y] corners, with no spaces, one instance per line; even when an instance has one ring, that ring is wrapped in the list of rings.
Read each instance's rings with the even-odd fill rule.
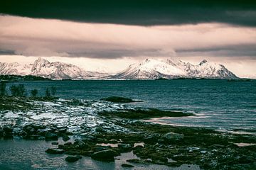
[[[102,150],[99,152],[95,152],[91,155],[92,159],[106,161],[106,162],[114,162],[114,157],[117,156],[117,153],[112,149]]]

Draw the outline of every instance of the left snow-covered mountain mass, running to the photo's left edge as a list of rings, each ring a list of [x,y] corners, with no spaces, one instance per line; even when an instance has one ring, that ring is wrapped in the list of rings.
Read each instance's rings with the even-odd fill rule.
[[[33,64],[0,62],[0,74],[33,75],[49,79],[97,79],[106,75],[99,72],[87,72],[73,64],[49,62],[41,57]]]

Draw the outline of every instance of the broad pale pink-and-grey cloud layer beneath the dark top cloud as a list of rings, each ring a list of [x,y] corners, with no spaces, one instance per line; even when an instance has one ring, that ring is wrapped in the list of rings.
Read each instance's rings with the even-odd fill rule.
[[[255,57],[256,28],[220,23],[125,26],[0,16],[0,53],[92,58]]]

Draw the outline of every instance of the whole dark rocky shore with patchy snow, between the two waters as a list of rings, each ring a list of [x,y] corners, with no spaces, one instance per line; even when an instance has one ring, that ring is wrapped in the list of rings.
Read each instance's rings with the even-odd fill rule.
[[[255,135],[144,121],[164,116],[189,114],[108,101],[1,96],[0,137],[53,140],[46,153],[66,154],[66,162],[81,157],[114,162],[120,154],[132,152],[136,158],[128,159],[123,167],[196,164],[201,169],[256,168]],[[70,142],[70,137],[75,140]]]

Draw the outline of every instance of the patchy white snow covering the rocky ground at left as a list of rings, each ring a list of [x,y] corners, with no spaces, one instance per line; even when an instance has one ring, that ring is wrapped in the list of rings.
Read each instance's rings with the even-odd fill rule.
[[[30,101],[33,108],[29,111],[2,111],[0,127],[6,124],[23,127],[32,123],[68,127],[68,131],[73,133],[81,133],[83,128],[96,128],[99,125],[110,130],[113,128],[116,131],[125,130],[114,125],[112,120],[101,118],[97,113],[127,109],[127,106],[107,101],[79,100],[75,102],[78,103],[63,99],[56,102]]]

